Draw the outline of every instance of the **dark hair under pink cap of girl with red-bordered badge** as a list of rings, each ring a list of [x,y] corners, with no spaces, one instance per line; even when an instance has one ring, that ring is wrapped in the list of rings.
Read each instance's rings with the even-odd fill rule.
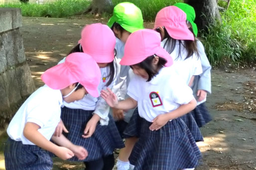
[[[154,76],[156,76],[158,74],[158,71],[164,66],[164,64],[167,62],[166,59],[159,57],[159,61],[157,63],[157,68],[153,69],[152,67],[152,60],[154,59],[156,55],[152,55],[147,57],[146,59],[144,59],[143,61],[134,64],[136,66],[139,66],[140,68],[144,69],[146,71],[146,73],[148,74],[148,79],[147,81],[150,81]],[[130,65],[131,69],[133,65]]]

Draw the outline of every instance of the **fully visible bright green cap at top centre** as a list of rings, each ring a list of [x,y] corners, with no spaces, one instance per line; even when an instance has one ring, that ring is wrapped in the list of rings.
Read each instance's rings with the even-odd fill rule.
[[[114,7],[107,25],[111,28],[115,22],[130,33],[144,28],[141,10],[130,2],[122,2]]]

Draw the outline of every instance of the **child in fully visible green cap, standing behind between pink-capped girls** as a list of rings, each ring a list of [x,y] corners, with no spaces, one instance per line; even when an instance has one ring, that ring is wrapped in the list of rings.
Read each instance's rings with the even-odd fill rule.
[[[114,7],[113,16],[110,18],[107,25],[113,30],[116,36],[116,59],[117,63],[119,63],[124,56],[124,47],[128,36],[144,28],[141,10],[130,2],[119,3]],[[133,73],[129,66],[119,65],[119,76],[113,87],[113,92],[117,95],[119,100],[128,98],[127,87],[131,76],[133,76]],[[129,164],[128,157],[137,138],[124,136],[123,131],[133,112],[137,112],[137,109],[135,109],[135,111],[134,109],[124,111],[112,108],[111,110],[121,135],[126,138],[126,147],[122,148],[119,153],[117,162],[118,170],[128,170],[130,166],[132,167],[132,165]]]

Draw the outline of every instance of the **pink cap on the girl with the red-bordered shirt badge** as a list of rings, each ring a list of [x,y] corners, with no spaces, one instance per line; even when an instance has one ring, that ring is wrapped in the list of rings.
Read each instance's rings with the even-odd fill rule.
[[[137,64],[149,56],[156,55],[167,60],[165,66],[171,66],[172,57],[160,45],[160,34],[154,30],[141,29],[131,33],[125,45],[122,65]]]

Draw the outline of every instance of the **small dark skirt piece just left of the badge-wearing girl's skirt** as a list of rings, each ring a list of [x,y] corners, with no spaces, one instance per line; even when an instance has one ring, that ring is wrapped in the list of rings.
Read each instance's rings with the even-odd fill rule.
[[[123,137],[139,137],[142,119],[143,118],[138,114],[138,108],[136,108],[130,118],[128,125],[126,126],[126,129],[123,132]]]

